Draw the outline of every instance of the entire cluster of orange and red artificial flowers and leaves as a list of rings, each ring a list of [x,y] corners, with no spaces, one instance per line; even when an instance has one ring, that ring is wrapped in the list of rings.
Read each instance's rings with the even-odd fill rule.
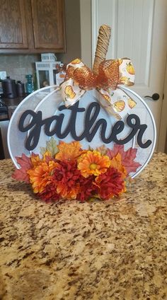
[[[41,154],[23,154],[21,166],[13,178],[30,183],[33,192],[45,202],[79,200],[92,197],[108,200],[126,191],[126,178],[140,166],[134,161],[137,149],[124,151],[115,144],[113,150],[100,146],[81,149],[79,142],[59,142],[51,138]]]

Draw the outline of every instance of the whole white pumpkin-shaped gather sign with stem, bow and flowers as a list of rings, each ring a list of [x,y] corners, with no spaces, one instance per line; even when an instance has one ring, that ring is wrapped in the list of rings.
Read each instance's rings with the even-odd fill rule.
[[[130,59],[105,60],[109,40],[103,25],[93,71],[74,59],[60,88],[35,91],[11,117],[13,178],[30,183],[42,200],[119,197],[153,154],[154,118],[126,87],[134,83]]]

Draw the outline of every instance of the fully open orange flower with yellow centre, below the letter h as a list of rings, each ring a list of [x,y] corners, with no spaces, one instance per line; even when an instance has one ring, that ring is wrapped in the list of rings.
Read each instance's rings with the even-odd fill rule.
[[[78,159],[78,169],[81,175],[87,178],[90,175],[98,176],[105,173],[110,166],[110,158],[102,156],[98,151],[87,151]]]

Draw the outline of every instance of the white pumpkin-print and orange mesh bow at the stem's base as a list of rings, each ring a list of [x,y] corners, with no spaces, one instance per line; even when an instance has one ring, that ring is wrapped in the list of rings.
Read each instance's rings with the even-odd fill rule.
[[[67,64],[67,74],[61,84],[64,105],[74,105],[86,91],[96,88],[98,101],[118,120],[137,104],[118,85],[134,85],[134,67],[130,59],[109,59],[100,63],[98,75],[93,74],[81,59]]]

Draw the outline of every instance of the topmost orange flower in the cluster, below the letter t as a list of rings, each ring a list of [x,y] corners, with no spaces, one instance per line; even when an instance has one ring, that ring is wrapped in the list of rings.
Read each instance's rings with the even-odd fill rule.
[[[71,161],[76,159],[81,155],[82,151],[79,142],[71,142],[69,144],[60,142],[58,148],[59,152],[55,158],[59,159],[59,161]]]

